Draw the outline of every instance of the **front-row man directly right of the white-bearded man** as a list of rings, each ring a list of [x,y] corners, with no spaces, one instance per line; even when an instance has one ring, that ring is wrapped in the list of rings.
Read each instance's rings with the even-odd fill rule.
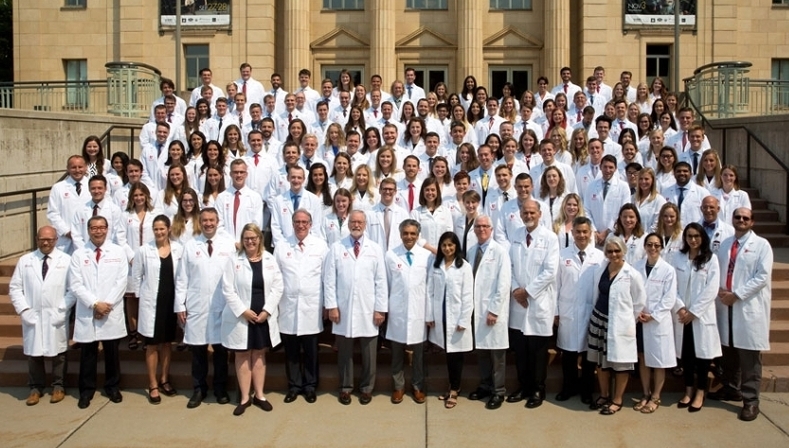
[[[392,403],[402,403],[405,395],[403,361],[405,351],[411,350],[414,401],[425,402],[424,342],[427,339],[425,311],[427,309],[427,268],[430,252],[419,247],[421,224],[413,219],[400,223],[400,244],[386,252],[386,279],[389,285],[389,322],[386,339],[392,342]]]

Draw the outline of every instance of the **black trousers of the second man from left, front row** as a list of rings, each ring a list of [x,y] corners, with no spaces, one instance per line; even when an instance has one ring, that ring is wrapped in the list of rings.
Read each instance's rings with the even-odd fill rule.
[[[99,356],[99,342],[104,349],[104,392],[107,395],[118,390],[121,381],[121,361],[118,356],[120,339],[80,343],[79,357],[79,395],[93,398],[96,393],[96,370]]]

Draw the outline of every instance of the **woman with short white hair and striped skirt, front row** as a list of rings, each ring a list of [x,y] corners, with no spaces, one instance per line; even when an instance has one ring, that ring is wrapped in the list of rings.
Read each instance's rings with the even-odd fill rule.
[[[604,249],[608,263],[597,269],[591,285],[579,285],[579,290],[591,294],[595,304],[589,321],[587,358],[597,364],[600,397],[590,407],[600,409],[603,415],[613,415],[622,409],[627,379],[638,360],[636,319],[646,304],[646,293],[641,274],[625,261],[627,246],[622,238],[609,236]]]

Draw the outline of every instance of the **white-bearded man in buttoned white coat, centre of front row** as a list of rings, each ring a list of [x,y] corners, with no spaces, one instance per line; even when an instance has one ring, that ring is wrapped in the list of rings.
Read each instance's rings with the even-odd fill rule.
[[[351,404],[353,344],[357,340],[362,352],[359,403],[366,405],[373,399],[378,328],[388,309],[384,252],[364,235],[366,225],[364,212],[351,212],[351,234],[329,248],[323,265],[324,305],[337,337],[339,401],[344,405]]]

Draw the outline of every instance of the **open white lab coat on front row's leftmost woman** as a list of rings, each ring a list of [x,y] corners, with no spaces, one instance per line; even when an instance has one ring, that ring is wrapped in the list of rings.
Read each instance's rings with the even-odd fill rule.
[[[170,242],[170,255],[173,258],[173,282],[178,274],[178,265],[183,258],[183,246],[175,241]],[[137,316],[137,332],[152,338],[156,328],[156,299],[159,295],[159,274],[161,259],[156,242],[144,244],[137,248],[132,263],[131,284],[129,292],[139,297],[139,314]]]

